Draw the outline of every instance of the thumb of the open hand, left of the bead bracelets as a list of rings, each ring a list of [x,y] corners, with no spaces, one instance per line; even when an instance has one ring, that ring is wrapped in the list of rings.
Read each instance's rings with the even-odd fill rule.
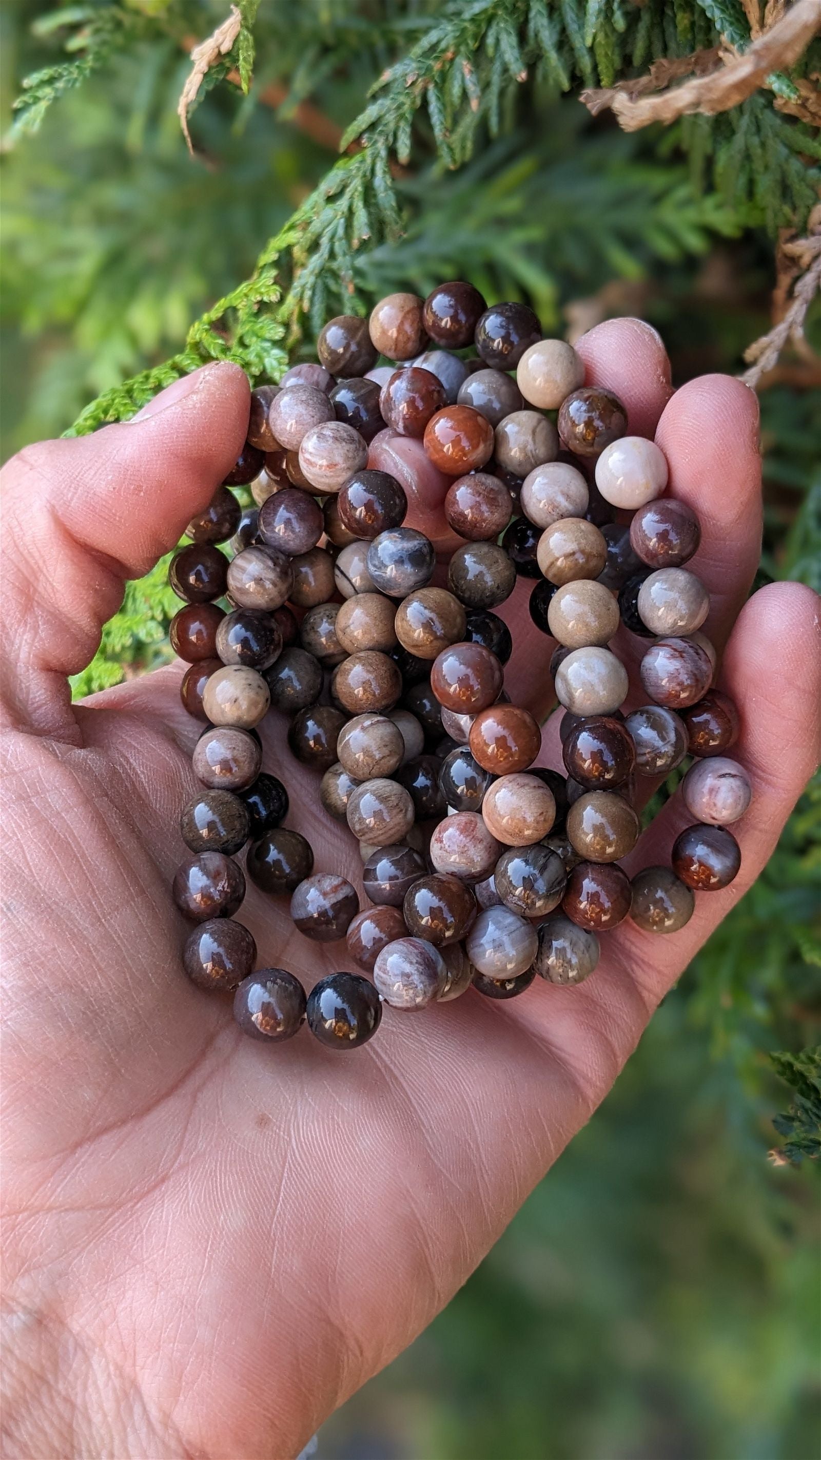
[[[206,365],[134,420],[41,441],[3,469],[1,692],[12,723],[69,733],[67,676],[93,657],[124,581],[147,572],[209,504],[242,450],[248,410],[244,371]]]

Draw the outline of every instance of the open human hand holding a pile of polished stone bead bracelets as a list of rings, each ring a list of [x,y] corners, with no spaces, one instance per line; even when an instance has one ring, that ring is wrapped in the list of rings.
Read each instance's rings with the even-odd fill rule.
[[[672,394],[639,321],[599,326],[579,349],[631,428],[656,432],[671,492],[701,518],[693,566],[713,596],[707,632],[726,644],[720,683],[742,714],[734,755],[754,785],[742,870],[699,896],[674,937],[630,921],[607,934],[579,988],[537,980],[512,1003],[468,993],[417,1016],[388,1010],[350,1056],[306,1032],[260,1047],[182,974],[169,885],[198,727],[179,704],[181,666],[69,698],[122,580],[174,546],[238,456],[245,377],[210,365],[141,419],[31,447],[6,469],[9,1454],[296,1454],[477,1266],[767,861],[814,768],[820,696],[814,594],[776,584],[745,603],[761,531],[755,397],[717,375]],[[516,645],[506,686],[544,712],[551,645],[524,588],[503,612]],[[316,777],[290,756],[280,717],[264,740],[316,870],[359,880],[359,853],[315,809]],[[541,759],[560,765],[553,726]],[[630,864],[665,860],[687,819],[674,797]],[[344,948],[308,943],[251,886],[241,918],[260,964],[308,986],[349,967]]]

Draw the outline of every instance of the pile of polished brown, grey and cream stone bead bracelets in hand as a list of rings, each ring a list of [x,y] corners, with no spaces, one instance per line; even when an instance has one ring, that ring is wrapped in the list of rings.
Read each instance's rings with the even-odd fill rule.
[[[276,1042],[306,1019],[344,1050],[376,1032],[384,1004],[421,1009],[471,986],[512,999],[535,974],[579,984],[599,934],[624,918],[684,927],[694,891],[738,873],[728,825],[750,780],[725,755],[738,712],[712,688],[709,594],[684,566],[699,520],[664,495],[664,454],[627,434],[611,390],[585,385],[572,346],[542,339],[525,305],[487,308],[455,282],[424,301],[389,295],[369,321],[330,320],[316,355],[252,391],[242,454],[171,562],[187,604],[171,623],[190,664],[182,704],[207,721],[174,896],[197,924],[185,972],[233,991],[246,1034]],[[405,526],[402,480],[423,469],[440,473],[461,540],[446,588],[430,585],[433,545]],[[241,485],[255,502],[245,511]],[[230,559],[217,546],[229,539]],[[541,729],[503,688],[513,645],[493,610],[518,575],[537,580],[531,618],[557,645],[566,777],[534,765]],[[647,704],[629,714],[610,647],[620,625],[647,639]],[[321,774],[325,812],[359,840],[362,911],[351,883],[315,875],[309,842],[283,825],[287,791],[262,771],[257,733],[270,708]],[[671,866],[629,877],[636,784],[687,755],[694,825]],[[233,918],[245,876],[290,895],[306,937],[346,937],[373,981],[337,972],[306,999],[286,969],[254,971],[254,937]]]

